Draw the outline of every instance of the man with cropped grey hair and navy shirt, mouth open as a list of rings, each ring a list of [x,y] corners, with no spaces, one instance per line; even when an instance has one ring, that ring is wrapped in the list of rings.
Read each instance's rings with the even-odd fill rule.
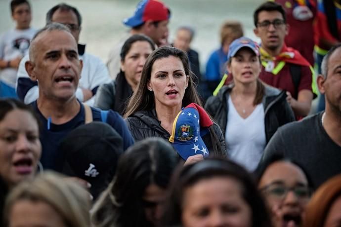
[[[60,171],[64,162],[58,151],[60,142],[74,128],[92,120],[111,125],[122,136],[124,150],[133,144],[117,112],[103,114],[77,100],[83,62],[79,60],[76,39],[66,26],[51,23],[44,27],[32,39],[29,55],[26,71],[33,81],[39,81],[39,98],[31,105],[43,123],[40,136],[44,168]]]

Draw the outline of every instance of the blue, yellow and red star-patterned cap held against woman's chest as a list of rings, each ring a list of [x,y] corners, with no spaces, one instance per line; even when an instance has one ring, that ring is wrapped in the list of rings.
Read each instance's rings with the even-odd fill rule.
[[[213,122],[206,111],[197,104],[183,108],[175,117],[169,141],[183,160],[189,156],[202,154],[209,156],[202,136],[208,133]]]

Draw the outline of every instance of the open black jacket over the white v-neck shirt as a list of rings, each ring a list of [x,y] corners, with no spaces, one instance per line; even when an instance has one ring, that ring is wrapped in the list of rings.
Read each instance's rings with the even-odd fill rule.
[[[228,105],[227,100],[232,90],[233,84],[224,86],[216,96],[211,96],[205,105],[206,111],[213,116],[225,135],[227,124]],[[278,127],[294,121],[295,115],[286,100],[285,91],[265,85],[265,94],[262,100],[264,107],[264,123],[266,144],[275,134]]]

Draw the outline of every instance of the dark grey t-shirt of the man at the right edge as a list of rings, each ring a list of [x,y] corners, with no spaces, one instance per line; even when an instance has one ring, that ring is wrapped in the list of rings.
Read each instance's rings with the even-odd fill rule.
[[[282,154],[307,171],[315,189],[341,173],[341,147],[328,136],[321,118],[322,113],[318,113],[280,127],[266,146],[259,165]]]

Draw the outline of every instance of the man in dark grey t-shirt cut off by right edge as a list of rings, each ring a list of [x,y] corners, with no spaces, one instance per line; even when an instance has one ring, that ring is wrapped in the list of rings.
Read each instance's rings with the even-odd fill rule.
[[[326,110],[279,127],[259,163],[284,155],[307,171],[315,189],[341,173],[341,44],[325,55],[321,66],[317,85]]]

